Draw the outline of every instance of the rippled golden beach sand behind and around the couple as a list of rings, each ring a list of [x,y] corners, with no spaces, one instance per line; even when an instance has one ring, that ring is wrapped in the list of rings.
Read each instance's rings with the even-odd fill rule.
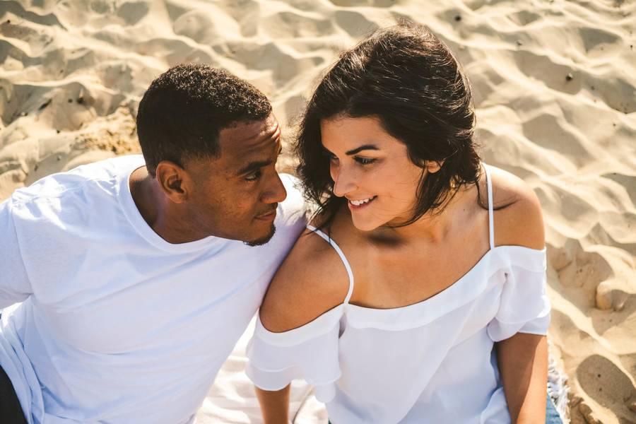
[[[169,66],[223,66],[288,122],[340,49],[403,16],[429,25],[473,83],[485,161],[526,179],[543,204],[550,337],[570,376],[572,422],[636,423],[633,1],[56,3],[0,2],[0,199],[50,172],[139,151],[136,107]],[[233,358],[223,375],[240,386]],[[250,390],[223,396],[238,405]],[[223,420],[256,420],[253,398],[249,408]]]

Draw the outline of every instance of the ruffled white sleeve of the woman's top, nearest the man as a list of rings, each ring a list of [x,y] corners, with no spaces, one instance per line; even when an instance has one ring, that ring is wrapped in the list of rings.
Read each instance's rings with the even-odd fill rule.
[[[334,399],[334,382],[340,378],[338,337],[343,305],[312,322],[283,333],[272,333],[257,319],[247,346],[247,377],[260,389],[283,389],[293,379],[314,386],[319,401]]]

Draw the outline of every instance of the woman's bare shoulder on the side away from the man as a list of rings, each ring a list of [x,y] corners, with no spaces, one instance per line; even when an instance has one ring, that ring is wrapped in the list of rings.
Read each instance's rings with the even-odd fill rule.
[[[541,204],[523,179],[490,167],[495,206],[495,245],[543,249],[546,243]]]

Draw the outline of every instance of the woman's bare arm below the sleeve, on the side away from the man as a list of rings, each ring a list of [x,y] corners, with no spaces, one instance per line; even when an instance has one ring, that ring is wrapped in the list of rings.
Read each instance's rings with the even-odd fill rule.
[[[517,333],[495,344],[512,423],[546,419],[548,342],[546,336]]]

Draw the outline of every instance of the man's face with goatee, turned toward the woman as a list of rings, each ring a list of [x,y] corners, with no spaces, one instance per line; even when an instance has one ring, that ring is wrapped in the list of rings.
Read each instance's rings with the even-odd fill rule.
[[[196,230],[249,245],[271,239],[276,207],[287,196],[276,172],[280,136],[271,114],[222,129],[218,158],[189,160],[194,189],[188,208]]]

